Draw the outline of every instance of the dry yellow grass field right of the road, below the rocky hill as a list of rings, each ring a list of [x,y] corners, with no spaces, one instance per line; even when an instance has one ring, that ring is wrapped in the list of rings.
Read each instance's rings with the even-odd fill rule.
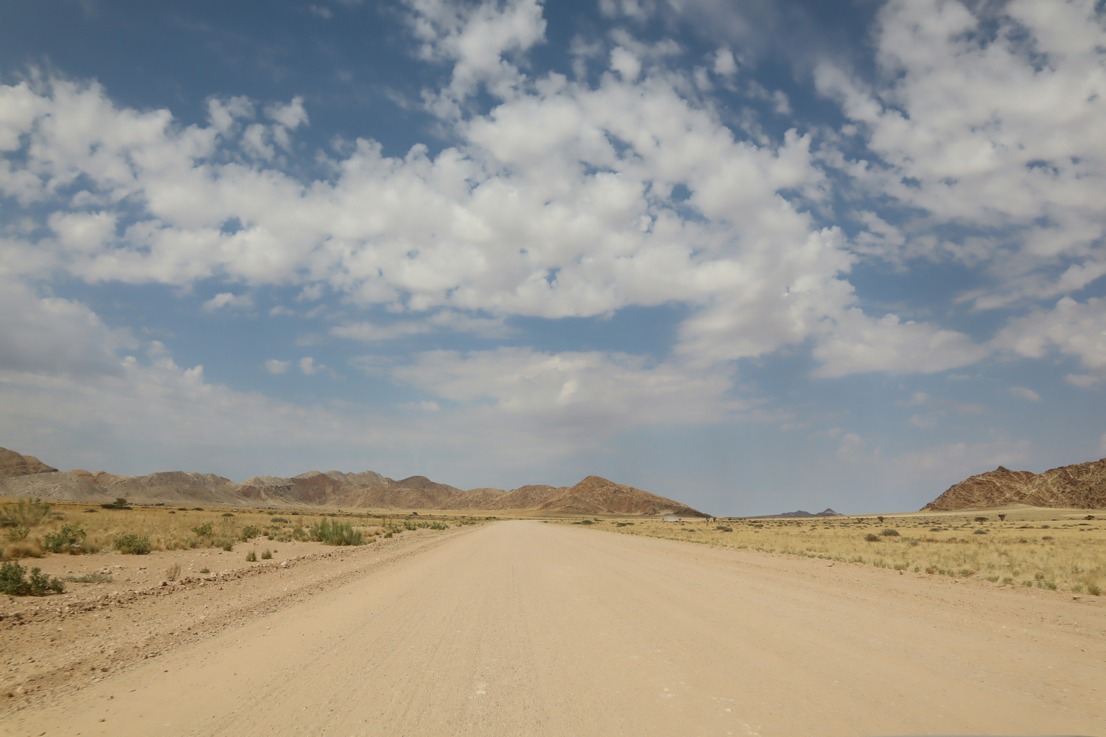
[[[594,526],[739,549],[983,578],[997,583],[1102,594],[1106,586],[1106,516],[1066,509],[941,515],[662,523],[606,519]],[[987,522],[977,523],[977,516]],[[623,526],[618,526],[622,523]],[[731,527],[732,533],[719,527]],[[884,529],[898,535],[884,536]],[[978,534],[977,530],[985,530]],[[865,537],[874,535],[877,540]]]

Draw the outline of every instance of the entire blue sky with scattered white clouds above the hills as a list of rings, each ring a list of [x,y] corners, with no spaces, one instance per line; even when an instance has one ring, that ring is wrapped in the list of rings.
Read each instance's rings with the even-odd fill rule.
[[[1106,455],[1094,2],[9,3],[0,445],[917,508]]]

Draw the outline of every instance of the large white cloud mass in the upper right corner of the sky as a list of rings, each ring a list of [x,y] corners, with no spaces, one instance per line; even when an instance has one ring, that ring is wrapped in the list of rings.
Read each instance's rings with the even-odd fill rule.
[[[866,213],[859,245],[891,261],[982,263],[991,285],[963,298],[984,309],[1106,274],[1096,4],[893,0],[875,43],[874,86],[828,64],[815,75],[868,147],[866,160],[833,166],[902,206],[889,208],[905,221],[895,227]],[[938,238],[937,224],[953,229]]]

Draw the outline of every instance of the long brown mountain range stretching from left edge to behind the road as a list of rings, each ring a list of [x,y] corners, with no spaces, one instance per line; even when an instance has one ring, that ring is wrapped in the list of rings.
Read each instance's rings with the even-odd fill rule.
[[[253,476],[234,483],[216,474],[190,471],[163,471],[146,476],[121,476],[83,468],[60,472],[33,456],[7,449],[0,449],[0,495],[75,502],[124,497],[139,504],[170,505],[708,516],[686,504],[599,476],[588,476],[574,486],[534,484],[513,489],[468,491],[426,476],[396,481],[374,471],[309,471],[292,477]]]

